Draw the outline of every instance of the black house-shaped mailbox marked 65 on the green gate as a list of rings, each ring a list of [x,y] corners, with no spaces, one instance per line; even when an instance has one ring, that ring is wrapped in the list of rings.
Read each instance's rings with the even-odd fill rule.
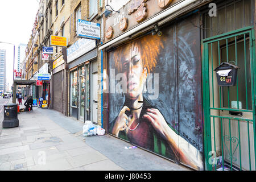
[[[235,86],[238,68],[240,67],[226,62],[221,63],[215,68],[218,86]]]

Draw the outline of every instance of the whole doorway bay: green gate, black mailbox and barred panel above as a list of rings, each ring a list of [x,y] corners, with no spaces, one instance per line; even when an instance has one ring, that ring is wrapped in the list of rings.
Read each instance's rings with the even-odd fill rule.
[[[201,9],[205,168],[255,171],[255,1],[214,3],[217,16]]]

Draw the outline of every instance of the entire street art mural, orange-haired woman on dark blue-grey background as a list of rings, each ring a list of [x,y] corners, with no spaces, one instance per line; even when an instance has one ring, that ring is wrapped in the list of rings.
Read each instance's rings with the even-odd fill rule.
[[[109,133],[204,169],[198,15],[110,51]],[[193,24],[189,23],[193,21]]]

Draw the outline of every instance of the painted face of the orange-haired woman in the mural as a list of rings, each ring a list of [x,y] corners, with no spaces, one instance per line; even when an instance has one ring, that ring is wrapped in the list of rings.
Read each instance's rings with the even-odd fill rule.
[[[147,71],[146,68],[143,68],[141,54],[137,47],[134,47],[132,50],[125,49],[123,58],[122,73],[127,78],[127,93],[125,94],[126,97],[135,100],[143,92]]]

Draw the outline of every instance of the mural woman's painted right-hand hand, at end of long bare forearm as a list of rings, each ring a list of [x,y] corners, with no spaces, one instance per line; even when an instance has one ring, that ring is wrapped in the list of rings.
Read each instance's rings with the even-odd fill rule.
[[[147,119],[154,127],[154,129],[162,135],[164,139],[168,138],[168,130],[170,127],[167,125],[166,120],[158,109],[147,109],[146,114],[143,115],[144,119]]]

